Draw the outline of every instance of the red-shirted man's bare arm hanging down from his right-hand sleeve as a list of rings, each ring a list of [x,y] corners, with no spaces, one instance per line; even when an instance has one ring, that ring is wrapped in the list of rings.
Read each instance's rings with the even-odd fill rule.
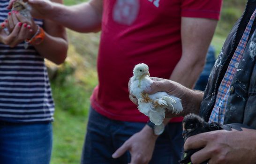
[[[203,70],[205,56],[216,26],[217,20],[181,18],[182,56],[170,80],[193,88]]]

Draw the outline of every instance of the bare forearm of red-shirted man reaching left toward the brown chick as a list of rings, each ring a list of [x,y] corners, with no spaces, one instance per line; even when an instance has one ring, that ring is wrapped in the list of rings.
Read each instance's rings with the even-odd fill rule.
[[[67,7],[58,3],[53,4],[53,13],[47,15],[64,27],[78,32],[96,32],[101,28],[102,8],[91,2]]]

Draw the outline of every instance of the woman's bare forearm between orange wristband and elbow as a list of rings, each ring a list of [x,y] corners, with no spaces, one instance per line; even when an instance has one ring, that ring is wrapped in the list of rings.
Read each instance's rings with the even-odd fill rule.
[[[61,37],[53,37],[46,32],[44,41],[34,47],[42,57],[56,64],[63,63],[67,57],[67,41]]]

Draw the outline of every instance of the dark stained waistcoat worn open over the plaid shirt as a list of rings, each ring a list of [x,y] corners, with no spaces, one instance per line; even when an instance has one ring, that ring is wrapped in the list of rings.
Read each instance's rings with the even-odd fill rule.
[[[255,11],[256,4],[248,0],[246,11],[231,30],[223,45],[222,51],[216,60],[211,76],[204,93],[200,115],[208,121],[221,80],[223,79],[228,63],[236,49],[250,16]],[[230,85],[227,99],[224,124],[243,123],[256,128],[256,21],[254,21],[249,40],[242,59],[236,65],[237,69]]]

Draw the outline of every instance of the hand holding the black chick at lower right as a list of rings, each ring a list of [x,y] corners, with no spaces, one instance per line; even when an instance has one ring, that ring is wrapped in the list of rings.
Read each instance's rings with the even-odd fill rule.
[[[188,137],[184,150],[203,148],[191,156],[193,164],[255,164],[256,130],[217,130]]]

